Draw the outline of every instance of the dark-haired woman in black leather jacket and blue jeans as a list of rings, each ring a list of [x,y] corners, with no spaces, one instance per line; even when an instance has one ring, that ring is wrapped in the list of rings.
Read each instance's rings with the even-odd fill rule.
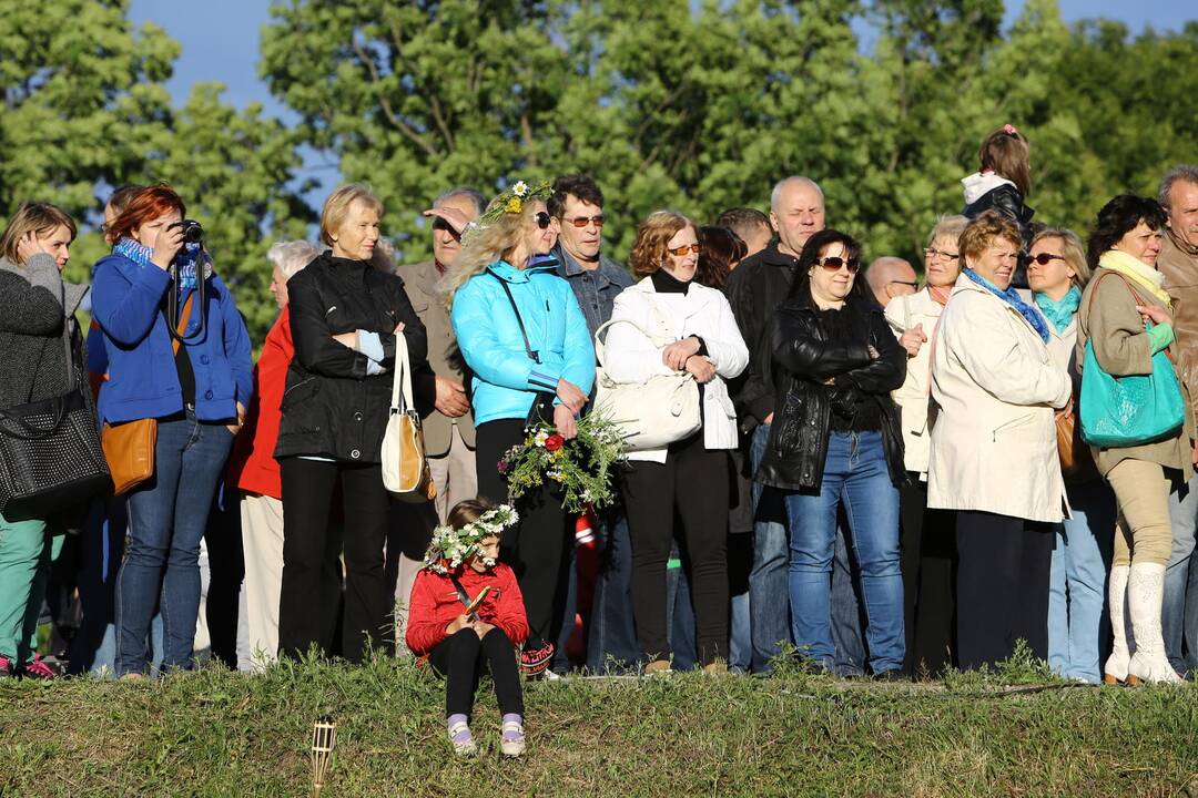
[[[791,623],[794,642],[830,669],[829,577],[843,506],[865,597],[870,668],[900,674],[904,654],[898,569],[902,437],[890,391],[907,355],[882,309],[857,281],[860,245],[835,230],[815,233],[774,316],[776,380],[769,447],[757,471],[788,491]]]

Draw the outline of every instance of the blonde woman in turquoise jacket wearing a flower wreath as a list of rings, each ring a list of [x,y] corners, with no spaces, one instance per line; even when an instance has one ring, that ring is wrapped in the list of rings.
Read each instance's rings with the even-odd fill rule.
[[[492,200],[466,231],[465,248],[444,280],[458,346],[473,374],[478,492],[496,502],[508,499],[498,463],[524,440],[533,404],[573,438],[594,383],[586,317],[549,257],[558,229],[545,207],[547,195],[547,185],[519,182]],[[550,641],[562,623],[558,580],[567,519],[561,497],[549,488],[525,494],[518,506],[521,522],[504,531],[502,556],[516,572],[528,615],[521,663],[526,672],[539,674],[553,658]]]

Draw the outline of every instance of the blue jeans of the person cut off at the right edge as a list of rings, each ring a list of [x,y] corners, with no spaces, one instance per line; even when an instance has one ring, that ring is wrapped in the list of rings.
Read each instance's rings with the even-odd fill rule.
[[[1169,516],[1173,553],[1164,567],[1164,604],[1161,607],[1164,653],[1179,674],[1198,672],[1198,558],[1193,556],[1198,476],[1169,494]]]

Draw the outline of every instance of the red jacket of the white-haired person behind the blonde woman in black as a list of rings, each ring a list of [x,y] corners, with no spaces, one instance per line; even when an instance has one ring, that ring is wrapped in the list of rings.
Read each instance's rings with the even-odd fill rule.
[[[246,428],[234,443],[229,458],[229,483],[247,493],[283,498],[279,462],[274,443],[279,437],[279,404],[288,379],[288,367],[295,354],[291,343],[291,313],[286,306],[279,313],[262,343],[262,354],[254,366],[254,398],[246,415]]]

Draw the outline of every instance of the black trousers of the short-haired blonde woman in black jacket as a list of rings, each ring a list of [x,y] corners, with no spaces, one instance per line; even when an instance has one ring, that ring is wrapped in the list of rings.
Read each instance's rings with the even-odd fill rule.
[[[345,610],[341,654],[361,663],[369,646],[394,644],[392,597],[383,577],[389,498],[379,465],[346,465],[286,457],[283,476],[283,589],[279,596],[279,653],[301,657],[316,644],[333,651],[341,604],[345,554]],[[329,524],[333,488],[344,497],[344,534]]]

